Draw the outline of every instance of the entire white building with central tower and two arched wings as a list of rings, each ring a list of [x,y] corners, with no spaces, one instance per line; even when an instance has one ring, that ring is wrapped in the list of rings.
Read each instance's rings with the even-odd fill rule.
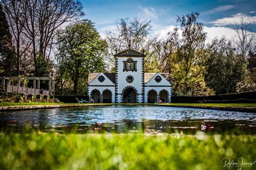
[[[88,95],[95,103],[171,102],[170,75],[144,73],[145,54],[127,48],[114,57],[116,73],[89,74]]]

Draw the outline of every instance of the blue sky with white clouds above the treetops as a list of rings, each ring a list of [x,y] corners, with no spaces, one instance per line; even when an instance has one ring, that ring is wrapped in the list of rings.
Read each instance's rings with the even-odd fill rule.
[[[118,18],[140,17],[152,20],[153,34],[163,38],[177,25],[176,17],[199,12],[199,22],[205,24],[205,31],[211,40],[215,36],[234,36],[230,27],[243,17],[252,24],[256,32],[256,0],[254,1],[82,1],[85,18],[96,23],[96,29],[104,36],[105,30],[114,29]]]

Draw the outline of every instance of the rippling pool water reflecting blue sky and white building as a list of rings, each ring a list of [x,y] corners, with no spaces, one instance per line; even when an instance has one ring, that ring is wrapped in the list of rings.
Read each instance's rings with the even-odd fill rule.
[[[102,125],[95,125],[95,123]],[[112,105],[0,113],[0,131],[106,132],[194,134],[202,124],[208,132],[256,134],[256,114],[149,105]]]

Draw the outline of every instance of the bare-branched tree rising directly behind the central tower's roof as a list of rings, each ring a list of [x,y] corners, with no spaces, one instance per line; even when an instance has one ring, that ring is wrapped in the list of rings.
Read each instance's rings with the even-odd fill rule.
[[[112,64],[116,61],[112,57],[117,51],[122,51],[131,43],[131,48],[144,52],[147,55],[145,60],[145,69],[147,70],[148,62],[154,54],[154,42],[156,37],[151,38],[152,31],[151,21],[141,20],[139,18],[118,19],[116,29],[106,31],[107,42],[110,53],[109,60]]]

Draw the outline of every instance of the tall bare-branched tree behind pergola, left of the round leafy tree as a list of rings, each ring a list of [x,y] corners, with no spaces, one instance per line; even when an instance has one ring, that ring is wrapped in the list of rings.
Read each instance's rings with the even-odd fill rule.
[[[27,21],[24,30],[32,41],[35,75],[44,74],[42,70],[49,66],[59,27],[83,16],[82,8],[82,3],[77,0],[26,0],[23,3],[23,17]]]

